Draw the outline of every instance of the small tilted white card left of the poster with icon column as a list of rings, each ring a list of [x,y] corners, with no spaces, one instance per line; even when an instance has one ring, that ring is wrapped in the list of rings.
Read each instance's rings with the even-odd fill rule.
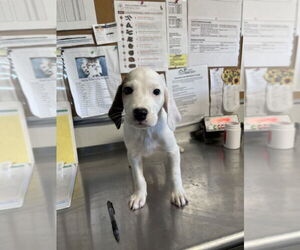
[[[97,45],[119,42],[117,24],[115,22],[94,24],[93,30]]]

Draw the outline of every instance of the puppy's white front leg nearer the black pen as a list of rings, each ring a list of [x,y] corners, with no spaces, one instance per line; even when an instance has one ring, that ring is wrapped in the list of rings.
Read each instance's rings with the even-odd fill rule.
[[[142,157],[128,153],[128,161],[134,184],[134,193],[130,197],[129,208],[136,210],[142,208],[146,203],[147,184],[143,174]]]

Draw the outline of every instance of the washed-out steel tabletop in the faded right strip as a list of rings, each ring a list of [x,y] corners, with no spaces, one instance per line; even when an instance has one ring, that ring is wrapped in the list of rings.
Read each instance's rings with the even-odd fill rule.
[[[246,133],[245,249],[300,249],[300,131],[293,149],[268,148]]]

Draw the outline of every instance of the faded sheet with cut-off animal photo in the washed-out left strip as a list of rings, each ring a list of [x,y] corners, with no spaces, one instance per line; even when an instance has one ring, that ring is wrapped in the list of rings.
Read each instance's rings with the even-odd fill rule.
[[[39,118],[56,116],[56,48],[14,49],[12,63],[30,110]]]

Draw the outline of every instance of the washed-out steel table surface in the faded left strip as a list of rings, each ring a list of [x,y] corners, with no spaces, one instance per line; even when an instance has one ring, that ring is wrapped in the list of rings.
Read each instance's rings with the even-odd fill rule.
[[[1,250],[56,247],[56,149],[35,149],[33,153],[35,164],[23,206],[0,211]]]

